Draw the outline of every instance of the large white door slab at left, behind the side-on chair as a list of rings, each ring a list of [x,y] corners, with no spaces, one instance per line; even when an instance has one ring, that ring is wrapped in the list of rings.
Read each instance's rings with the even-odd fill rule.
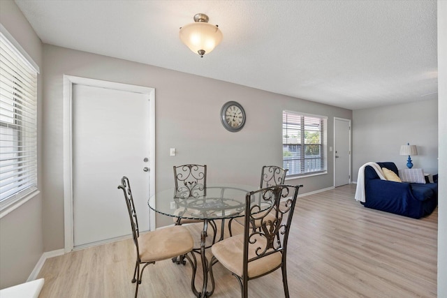
[[[129,178],[140,230],[149,230],[147,94],[73,84],[73,244],[131,233],[124,196]]]

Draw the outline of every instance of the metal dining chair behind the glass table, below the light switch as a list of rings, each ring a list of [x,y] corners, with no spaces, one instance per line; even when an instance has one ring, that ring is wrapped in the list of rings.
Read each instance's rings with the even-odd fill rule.
[[[174,181],[175,181],[175,198],[181,200],[184,198],[200,198],[207,194],[207,165],[174,165]],[[189,211],[184,208],[175,210],[174,214],[184,217],[174,217],[175,225],[184,225],[186,223],[201,223],[203,220],[191,219],[188,217]],[[192,214],[191,214],[192,215]],[[209,221],[213,230],[212,243],[216,241],[217,225],[214,221]],[[184,260],[181,255],[179,258],[173,258],[173,262],[177,264],[183,263]]]

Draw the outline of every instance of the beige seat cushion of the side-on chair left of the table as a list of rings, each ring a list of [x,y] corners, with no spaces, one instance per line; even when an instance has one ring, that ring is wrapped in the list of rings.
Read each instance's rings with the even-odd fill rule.
[[[184,255],[193,249],[193,237],[181,225],[140,234],[138,246],[142,262],[156,262]]]

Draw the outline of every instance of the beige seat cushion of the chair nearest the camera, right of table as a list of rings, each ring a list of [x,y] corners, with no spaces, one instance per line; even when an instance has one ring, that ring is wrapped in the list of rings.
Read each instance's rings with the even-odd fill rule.
[[[257,238],[256,244],[249,246],[249,259],[256,256],[256,248],[265,247],[265,238]],[[236,236],[224,239],[211,246],[212,254],[226,267],[238,276],[242,276],[242,261],[243,261],[244,235],[238,234]],[[248,276],[254,278],[265,274],[274,268],[281,265],[281,253],[272,253],[264,258],[249,262]]]

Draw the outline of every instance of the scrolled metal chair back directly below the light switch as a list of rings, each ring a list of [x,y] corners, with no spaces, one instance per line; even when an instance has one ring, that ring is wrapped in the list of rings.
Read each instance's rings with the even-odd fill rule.
[[[206,195],[207,166],[174,166],[175,198],[198,198]]]

